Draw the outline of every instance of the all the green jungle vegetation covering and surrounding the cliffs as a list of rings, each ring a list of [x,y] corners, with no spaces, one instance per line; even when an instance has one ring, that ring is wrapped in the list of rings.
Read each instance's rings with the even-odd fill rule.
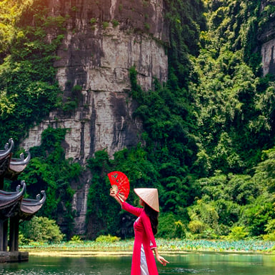
[[[46,4],[0,1],[1,148],[10,137],[19,144],[51,110],[77,106],[77,96],[62,102],[53,66],[67,18],[46,16]],[[261,4],[164,0],[168,80],[155,79],[154,89],[144,91],[135,67],[129,70],[141,142],[114,156],[96,151],[81,165],[65,158],[67,129],[46,129],[20,175],[29,196],[46,190],[39,216],[59,224],[61,212],[70,239],[72,183],[90,171],[87,216],[98,230],[86,237],[132,236],[132,218],[109,196],[107,174],[123,171],[131,189],[159,189],[159,237],[274,241],[275,76],[263,74],[259,34],[274,20],[275,1],[263,10]],[[51,31],[54,39],[46,43]],[[134,192],[128,200],[138,203]]]

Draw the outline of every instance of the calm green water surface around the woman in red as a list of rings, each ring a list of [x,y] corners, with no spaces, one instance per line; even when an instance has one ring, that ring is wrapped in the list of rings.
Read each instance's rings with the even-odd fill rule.
[[[159,275],[274,275],[275,256],[261,254],[163,255],[170,261],[158,264]],[[130,275],[131,256],[41,257],[28,262],[0,264],[0,275]]]

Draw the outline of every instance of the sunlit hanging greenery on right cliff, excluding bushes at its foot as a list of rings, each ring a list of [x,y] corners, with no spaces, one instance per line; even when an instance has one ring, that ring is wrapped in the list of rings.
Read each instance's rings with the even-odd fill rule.
[[[259,5],[208,2],[209,31],[201,34],[204,47],[194,67],[199,78],[190,86],[200,141],[197,163],[206,176],[216,169],[246,173],[260,161],[261,150],[274,145],[274,83],[269,76],[259,77],[259,52],[251,52]],[[257,66],[251,66],[252,56]]]

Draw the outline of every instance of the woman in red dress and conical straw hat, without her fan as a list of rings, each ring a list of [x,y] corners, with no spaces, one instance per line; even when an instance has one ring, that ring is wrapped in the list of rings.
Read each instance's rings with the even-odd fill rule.
[[[138,216],[134,222],[135,238],[131,275],[158,275],[153,251],[157,261],[164,266],[169,263],[164,257],[159,255],[154,239],[159,216],[158,190],[154,188],[137,188],[134,191],[139,196],[139,203],[144,206],[143,209],[122,201],[116,196],[113,189],[110,191],[110,196],[113,196],[118,201],[122,209]]]

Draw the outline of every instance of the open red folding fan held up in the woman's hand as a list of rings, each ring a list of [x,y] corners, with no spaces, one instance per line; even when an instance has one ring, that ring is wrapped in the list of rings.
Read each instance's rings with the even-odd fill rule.
[[[121,201],[126,201],[130,191],[130,184],[127,176],[120,171],[114,171],[109,173],[108,177],[111,182],[111,188],[115,191],[116,196]]]

